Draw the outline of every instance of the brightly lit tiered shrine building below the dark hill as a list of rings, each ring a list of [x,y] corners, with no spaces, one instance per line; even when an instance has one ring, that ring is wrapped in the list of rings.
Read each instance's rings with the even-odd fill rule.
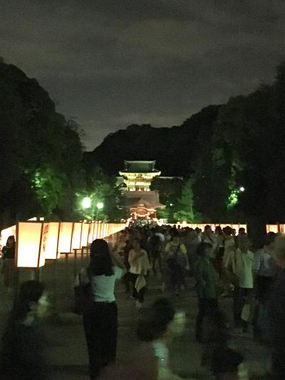
[[[156,218],[160,204],[159,193],[150,190],[152,179],[160,175],[155,169],[155,161],[125,161],[125,170],[120,171],[125,188],[122,189],[125,207],[133,219]]]

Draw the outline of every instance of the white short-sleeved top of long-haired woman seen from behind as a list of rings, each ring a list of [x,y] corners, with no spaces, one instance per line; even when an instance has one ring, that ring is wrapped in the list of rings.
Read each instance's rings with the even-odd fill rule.
[[[114,302],[115,301],[115,280],[120,279],[125,271],[119,267],[113,267],[114,274],[111,276],[91,277],[91,286],[93,292],[93,299],[95,302]]]

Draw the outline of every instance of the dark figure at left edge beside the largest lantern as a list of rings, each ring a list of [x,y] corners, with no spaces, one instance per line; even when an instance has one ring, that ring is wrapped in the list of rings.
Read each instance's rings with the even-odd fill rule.
[[[8,237],[6,245],[2,248],[2,259],[1,273],[4,278],[4,286],[7,288],[7,292],[11,293],[15,275],[15,237],[13,235]]]

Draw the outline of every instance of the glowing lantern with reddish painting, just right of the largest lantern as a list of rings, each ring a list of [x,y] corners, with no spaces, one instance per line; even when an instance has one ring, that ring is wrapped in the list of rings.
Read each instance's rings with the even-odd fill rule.
[[[47,260],[58,257],[59,222],[43,223],[41,251]]]

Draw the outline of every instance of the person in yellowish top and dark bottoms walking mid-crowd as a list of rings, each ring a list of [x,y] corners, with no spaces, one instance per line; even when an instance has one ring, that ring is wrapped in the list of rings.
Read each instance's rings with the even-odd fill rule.
[[[186,288],[185,272],[190,268],[185,245],[176,232],[165,247],[165,260],[170,272],[170,284],[175,294],[179,296],[180,289]]]

